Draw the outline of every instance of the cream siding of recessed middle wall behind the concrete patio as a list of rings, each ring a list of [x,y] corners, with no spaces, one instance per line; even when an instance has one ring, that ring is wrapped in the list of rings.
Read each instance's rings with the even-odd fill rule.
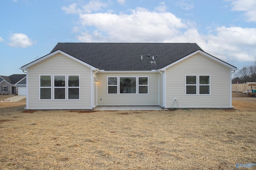
[[[148,77],[148,94],[108,94],[108,77]],[[98,106],[152,106],[158,105],[158,74],[156,73],[100,73],[98,72]],[[138,88],[138,80],[136,80]],[[119,84],[119,81],[118,83]]]

